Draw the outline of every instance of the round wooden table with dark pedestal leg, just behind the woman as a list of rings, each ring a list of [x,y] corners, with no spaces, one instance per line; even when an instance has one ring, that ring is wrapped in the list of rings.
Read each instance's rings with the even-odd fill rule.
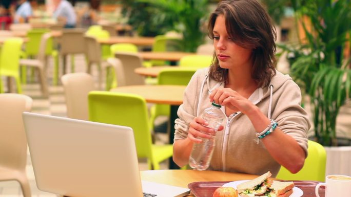
[[[178,118],[177,111],[179,105],[183,103],[183,94],[185,85],[128,85],[111,89],[112,92],[123,92],[137,94],[145,98],[146,102],[170,105],[170,134],[169,143],[173,144],[174,138],[174,120]],[[179,169],[173,162],[169,160],[169,169]]]

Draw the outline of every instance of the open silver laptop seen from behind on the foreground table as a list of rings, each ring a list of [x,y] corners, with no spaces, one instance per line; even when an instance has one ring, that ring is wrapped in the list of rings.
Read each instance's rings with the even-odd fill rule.
[[[38,189],[70,197],[184,196],[188,188],[141,181],[130,127],[23,113]]]

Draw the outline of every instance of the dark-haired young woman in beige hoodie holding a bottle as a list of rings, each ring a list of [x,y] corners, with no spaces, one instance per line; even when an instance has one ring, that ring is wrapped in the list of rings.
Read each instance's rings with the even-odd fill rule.
[[[216,134],[209,169],[270,170],[275,177],[283,165],[298,172],[307,157],[310,123],[299,86],[275,70],[270,17],[256,0],[222,1],[210,16],[208,33],[213,62],[194,74],[185,91],[175,120],[174,162],[188,164],[193,143],[214,132],[199,117],[214,101],[222,105],[226,122]]]

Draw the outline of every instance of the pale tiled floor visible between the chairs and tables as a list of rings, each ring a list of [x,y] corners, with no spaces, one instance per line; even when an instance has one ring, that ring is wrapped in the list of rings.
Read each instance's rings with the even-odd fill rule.
[[[70,61],[68,60],[68,62]],[[86,66],[85,66],[84,57],[80,55],[75,56],[75,62],[76,62],[75,72],[85,72]],[[33,99],[33,106],[32,106],[33,113],[66,117],[66,105],[65,105],[65,97],[63,93],[64,91],[63,87],[61,84],[57,86],[51,85],[52,76],[53,76],[52,61],[50,61],[49,67],[48,67],[48,82],[50,84],[49,98],[42,97],[42,94],[40,91],[40,85],[35,81],[33,83],[28,83],[26,85],[23,85],[23,93],[25,95],[30,96]],[[97,76],[96,69],[93,72],[93,76]],[[95,81],[97,82],[97,78],[95,79]],[[156,139],[158,143],[164,143],[167,140],[167,135],[158,133],[156,135]],[[145,161],[141,161],[139,166],[140,166],[140,170],[148,169],[147,163]],[[161,164],[161,169],[167,169],[167,167],[168,167],[167,161]],[[27,159],[27,177],[30,182],[31,192],[33,197],[56,196],[55,194],[43,192],[37,189],[29,151],[28,151],[28,159]],[[0,196],[1,197],[19,197],[23,195],[22,195],[22,190],[16,181],[1,181]]]

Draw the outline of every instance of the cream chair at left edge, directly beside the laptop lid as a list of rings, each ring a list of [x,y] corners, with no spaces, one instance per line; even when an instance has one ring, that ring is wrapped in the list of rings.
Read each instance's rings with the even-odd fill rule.
[[[32,108],[32,99],[21,94],[0,94],[0,180],[18,181],[24,197],[30,197],[26,175],[27,138],[22,113]]]

